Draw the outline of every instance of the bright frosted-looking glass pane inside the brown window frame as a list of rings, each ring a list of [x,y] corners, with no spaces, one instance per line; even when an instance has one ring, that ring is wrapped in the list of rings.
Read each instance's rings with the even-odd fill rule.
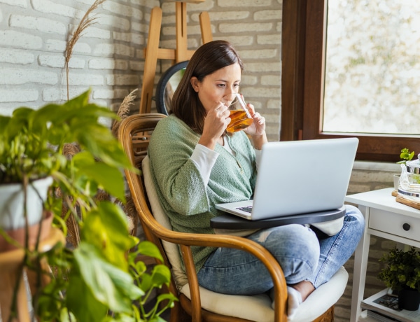
[[[420,134],[418,0],[331,0],[323,132]]]

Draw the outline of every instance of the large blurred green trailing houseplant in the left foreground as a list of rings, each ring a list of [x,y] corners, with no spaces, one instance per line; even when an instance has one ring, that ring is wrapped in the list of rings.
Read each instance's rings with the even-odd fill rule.
[[[23,194],[22,214],[9,211],[8,216],[23,216],[23,227],[18,228],[27,232],[33,212],[25,202],[27,188],[35,187],[39,179],[50,178],[45,196],[35,188],[42,207],[41,218],[35,222],[53,214],[53,225],[66,234],[65,222],[71,216],[78,223],[80,243],[76,247],[57,244],[40,254],[31,250],[27,234],[24,240],[15,240],[8,234],[10,227],[2,226],[1,221],[0,237],[25,250],[25,258],[31,258],[31,262],[22,263],[27,269],[38,275],[52,274],[33,265],[43,256],[53,267],[51,282],[32,297],[40,321],[161,321],[160,314],[176,298],[162,294],[150,311],[144,304],[154,288],[169,284],[170,271],[155,265],[150,272],[144,262],[136,260],[139,253],[162,258],[153,244],[139,243],[129,234],[125,213],[111,201],[125,201],[122,169],[136,169],[111,130],[99,122],[116,115],[90,104],[89,94],[84,92],[64,104],[48,104],[37,110],[22,107],[13,116],[0,116],[0,188],[18,185]],[[80,153],[72,158],[63,155],[69,143],[80,147]],[[95,196],[100,191],[110,197],[98,200]],[[0,204],[0,209],[10,207],[1,208]],[[13,318],[16,307],[10,311]]]

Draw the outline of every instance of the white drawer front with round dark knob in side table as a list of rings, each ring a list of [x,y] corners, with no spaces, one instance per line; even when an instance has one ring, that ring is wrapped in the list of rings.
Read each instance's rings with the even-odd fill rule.
[[[420,218],[371,208],[369,228],[400,237],[418,240],[420,236]]]

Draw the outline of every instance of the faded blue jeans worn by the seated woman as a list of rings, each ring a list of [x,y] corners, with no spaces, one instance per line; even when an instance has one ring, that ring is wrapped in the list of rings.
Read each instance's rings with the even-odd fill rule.
[[[249,235],[274,255],[283,269],[286,283],[310,281],[315,288],[329,281],[349,260],[365,227],[365,218],[353,206],[346,206],[342,230],[321,236],[304,225],[285,225]],[[217,293],[255,295],[273,287],[265,266],[250,253],[218,248],[197,274],[201,286]]]

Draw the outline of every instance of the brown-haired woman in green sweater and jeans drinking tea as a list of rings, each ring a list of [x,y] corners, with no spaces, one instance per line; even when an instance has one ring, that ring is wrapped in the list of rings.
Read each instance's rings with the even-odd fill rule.
[[[210,220],[222,214],[215,204],[253,195],[260,150],[267,142],[265,118],[248,104],[253,124],[234,134],[225,131],[230,123],[225,97],[239,92],[242,70],[230,43],[202,45],[176,88],[170,116],[152,134],[151,173],[176,231],[214,234]],[[258,230],[246,237],[279,261],[288,283],[289,316],[353,253],[364,228],[358,209],[347,207],[339,228],[335,235],[323,238],[304,225]],[[262,262],[244,251],[194,247],[193,255],[198,281],[209,290],[254,295],[273,286]]]

